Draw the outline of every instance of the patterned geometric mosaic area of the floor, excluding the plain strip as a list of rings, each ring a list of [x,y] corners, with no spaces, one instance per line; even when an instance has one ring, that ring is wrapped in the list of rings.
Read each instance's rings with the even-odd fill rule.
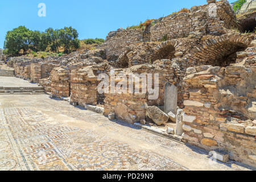
[[[0,113],[1,170],[185,169],[91,131],[43,122],[44,115],[28,107],[4,108]]]

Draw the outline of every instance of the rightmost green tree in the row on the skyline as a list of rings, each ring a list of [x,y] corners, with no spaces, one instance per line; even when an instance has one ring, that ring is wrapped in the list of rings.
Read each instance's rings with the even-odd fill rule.
[[[80,41],[78,38],[79,34],[75,28],[64,27],[60,29],[60,43],[64,47],[64,52],[69,53],[71,48],[79,48]]]

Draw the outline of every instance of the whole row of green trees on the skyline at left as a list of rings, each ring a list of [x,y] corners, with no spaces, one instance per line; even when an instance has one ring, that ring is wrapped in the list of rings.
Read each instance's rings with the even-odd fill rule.
[[[12,31],[8,31],[5,38],[4,48],[6,55],[23,55],[32,51],[46,51],[47,47],[52,52],[59,52],[59,48],[64,48],[64,53],[69,53],[71,49],[80,47],[78,39],[79,33],[75,28],[64,27],[60,30],[48,28],[46,31],[31,31],[25,26],[19,26]]]

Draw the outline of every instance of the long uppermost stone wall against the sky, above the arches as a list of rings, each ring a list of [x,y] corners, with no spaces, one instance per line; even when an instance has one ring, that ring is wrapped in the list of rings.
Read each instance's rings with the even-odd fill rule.
[[[235,28],[240,29],[241,26],[229,3],[213,1],[208,5],[192,7],[189,13],[174,13],[154,20],[154,24],[148,26],[146,30],[120,28],[110,32],[100,48],[106,49],[106,59],[117,60],[124,52],[129,53],[131,47],[138,43],[222,35],[229,32],[229,29]],[[136,59],[133,61],[136,62]]]

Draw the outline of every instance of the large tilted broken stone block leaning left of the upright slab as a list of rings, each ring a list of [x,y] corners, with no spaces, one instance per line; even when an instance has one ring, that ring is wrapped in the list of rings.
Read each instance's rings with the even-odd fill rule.
[[[146,114],[156,125],[168,122],[169,116],[156,106],[146,106]]]

